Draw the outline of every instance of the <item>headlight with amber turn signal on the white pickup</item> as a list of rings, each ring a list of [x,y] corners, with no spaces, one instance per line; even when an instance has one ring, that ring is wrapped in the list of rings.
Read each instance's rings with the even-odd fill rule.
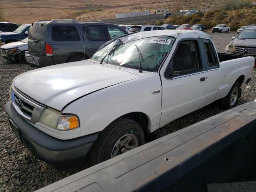
[[[78,118],[76,116],[63,116],[61,112],[52,108],[46,108],[43,111],[40,122],[58,130],[72,130],[79,127]]]

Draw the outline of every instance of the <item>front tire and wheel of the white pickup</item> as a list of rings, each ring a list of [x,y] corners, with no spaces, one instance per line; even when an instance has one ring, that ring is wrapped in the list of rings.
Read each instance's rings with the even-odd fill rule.
[[[98,164],[144,144],[140,125],[128,118],[118,118],[103,130],[90,149],[91,165]]]

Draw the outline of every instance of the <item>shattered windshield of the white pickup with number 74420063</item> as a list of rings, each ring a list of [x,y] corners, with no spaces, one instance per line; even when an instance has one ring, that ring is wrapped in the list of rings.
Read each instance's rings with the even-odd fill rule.
[[[134,69],[139,69],[141,65],[142,70],[157,72],[166,53],[172,49],[174,40],[175,38],[170,36],[157,36],[122,44],[117,39],[97,51],[91,59],[103,64]]]

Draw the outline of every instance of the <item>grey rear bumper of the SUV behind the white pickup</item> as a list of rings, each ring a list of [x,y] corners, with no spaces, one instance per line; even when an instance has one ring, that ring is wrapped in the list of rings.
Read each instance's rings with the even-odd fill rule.
[[[29,51],[26,51],[25,58],[28,63],[30,63],[34,66],[45,67],[45,66],[53,65],[52,56],[37,57],[37,56],[30,54]]]

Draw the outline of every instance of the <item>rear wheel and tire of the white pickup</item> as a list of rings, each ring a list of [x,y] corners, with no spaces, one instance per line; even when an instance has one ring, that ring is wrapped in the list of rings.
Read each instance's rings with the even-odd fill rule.
[[[228,95],[220,100],[220,108],[228,110],[236,106],[238,98],[241,94],[240,86],[241,85],[238,81],[233,84],[232,88],[228,92]]]

